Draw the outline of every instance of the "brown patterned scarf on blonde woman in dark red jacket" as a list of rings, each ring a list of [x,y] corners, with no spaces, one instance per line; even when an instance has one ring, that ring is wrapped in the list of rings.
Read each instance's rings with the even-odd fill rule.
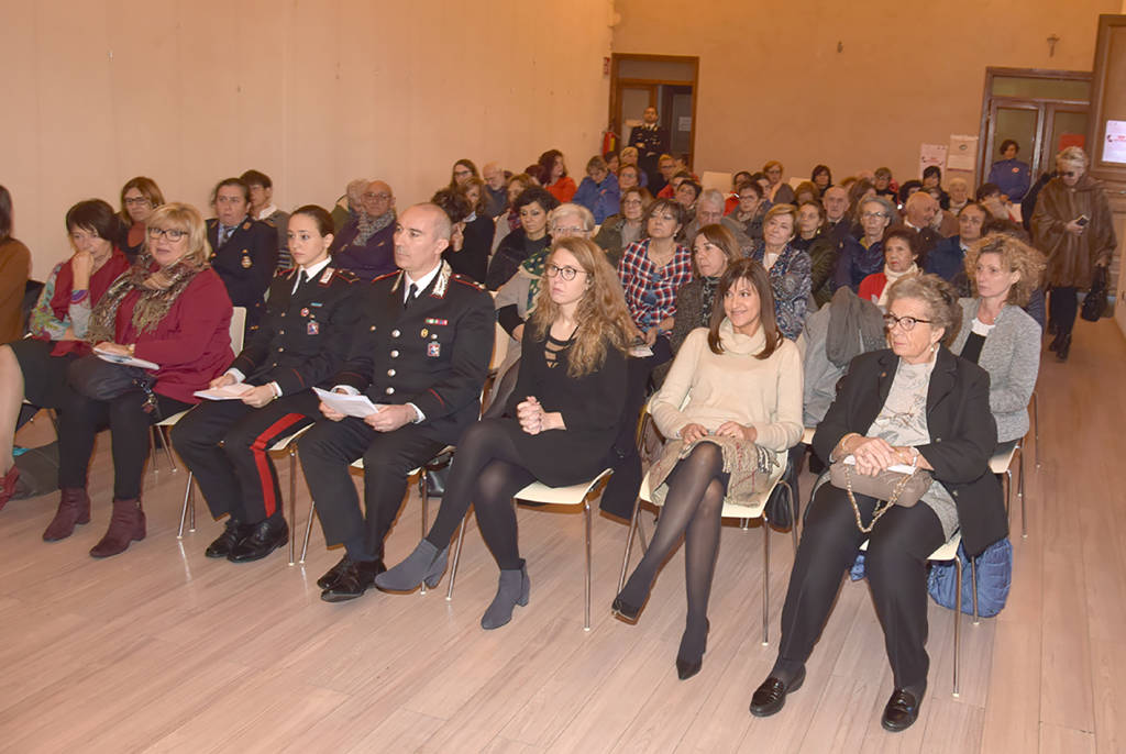
[[[196,275],[208,267],[206,263],[197,267],[182,260],[163,269],[152,270],[150,269],[152,266],[153,258],[145,252],[137,257],[137,261],[127,272],[114,280],[90,313],[90,325],[83,339],[87,343],[116,340],[117,308],[134,290],[138,290],[141,296],[133,307],[133,326],[138,332],[153,332]],[[163,288],[146,288],[145,280],[158,272],[163,273],[169,280],[168,285]]]

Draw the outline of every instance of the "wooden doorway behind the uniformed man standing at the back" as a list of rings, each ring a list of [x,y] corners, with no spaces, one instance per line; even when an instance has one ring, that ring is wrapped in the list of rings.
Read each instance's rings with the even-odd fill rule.
[[[696,84],[699,57],[614,53],[610,57],[610,131],[623,146],[646,107],[655,107],[658,125],[669,134],[669,151],[691,164],[696,145]]]

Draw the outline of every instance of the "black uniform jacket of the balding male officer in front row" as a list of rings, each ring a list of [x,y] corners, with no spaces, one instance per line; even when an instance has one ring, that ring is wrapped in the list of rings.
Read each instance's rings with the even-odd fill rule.
[[[348,361],[332,384],[350,385],[373,403],[413,403],[430,436],[454,445],[481,413],[497,329],[492,296],[444,261],[404,309],[402,278],[376,278],[363,293]]]

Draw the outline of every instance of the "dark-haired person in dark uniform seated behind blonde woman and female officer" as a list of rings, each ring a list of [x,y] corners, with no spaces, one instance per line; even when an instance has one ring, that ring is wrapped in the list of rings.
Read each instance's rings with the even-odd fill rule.
[[[207,221],[211,263],[234,306],[247,307],[247,331],[262,316],[266,289],[278,264],[277,231],[250,218],[250,187],[241,178],[218,182]]]

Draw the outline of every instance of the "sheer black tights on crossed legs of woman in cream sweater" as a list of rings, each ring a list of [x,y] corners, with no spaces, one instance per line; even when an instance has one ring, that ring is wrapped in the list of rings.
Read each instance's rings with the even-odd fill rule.
[[[703,647],[707,637],[707,602],[712,594],[715,558],[720,550],[723,499],[730,475],[723,470],[723,450],[714,442],[700,442],[669,475],[669,492],[653,541],[622,591],[628,604],[641,605],[669,554],[685,538],[685,584],[688,617],[685,641],[691,649]]]

